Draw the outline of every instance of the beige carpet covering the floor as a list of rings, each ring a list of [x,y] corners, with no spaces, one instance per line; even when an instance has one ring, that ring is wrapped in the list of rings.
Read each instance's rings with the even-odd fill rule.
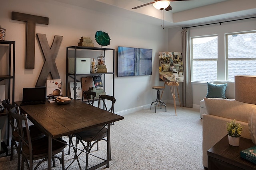
[[[79,145],[80,146],[80,145]],[[105,155],[106,142],[100,143],[99,156]],[[74,154],[67,155],[65,166],[72,162]],[[110,168],[103,166],[99,170],[204,170],[202,166],[202,120],[198,110],[177,107],[175,116],[172,104],[164,109],[144,109],[124,115],[124,120],[111,126]],[[10,156],[0,158],[1,169],[16,169],[17,154],[14,160]],[[85,154],[80,156],[80,164],[85,167]],[[89,158],[90,166],[100,161]],[[47,169],[44,163],[38,169]],[[54,170],[61,169],[56,160]],[[75,161],[68,169],[78,169]]]

